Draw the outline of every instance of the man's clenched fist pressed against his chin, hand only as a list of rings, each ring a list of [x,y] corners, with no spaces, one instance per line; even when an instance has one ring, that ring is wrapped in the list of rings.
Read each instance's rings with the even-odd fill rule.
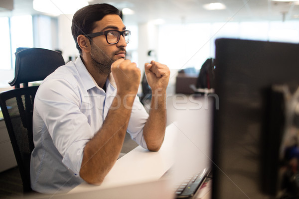
[[[141,72],[136,63],[118,59],[111,65],[111,72],[119,95],[137,94]]]

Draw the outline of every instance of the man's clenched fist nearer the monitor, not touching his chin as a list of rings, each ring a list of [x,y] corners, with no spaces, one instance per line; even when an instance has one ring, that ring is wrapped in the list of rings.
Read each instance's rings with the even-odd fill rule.
[[[170,71],[169,68],[155,61],[145,64],[145,73],[152,91],[166,91]]]

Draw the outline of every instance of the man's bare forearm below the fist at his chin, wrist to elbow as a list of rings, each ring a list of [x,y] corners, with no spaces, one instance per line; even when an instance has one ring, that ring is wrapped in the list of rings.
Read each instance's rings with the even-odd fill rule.
[[[125,139],[135,96],[116,97],[95,136],[86,144],[80,176],[88,183],[101,183],[115,164]]]

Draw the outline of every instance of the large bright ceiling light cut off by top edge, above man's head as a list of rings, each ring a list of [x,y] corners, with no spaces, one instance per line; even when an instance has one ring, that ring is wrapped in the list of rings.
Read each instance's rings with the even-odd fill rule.
[[[86,5],[86,0],[33,0],[33,9],[51,15],[74,14]]]

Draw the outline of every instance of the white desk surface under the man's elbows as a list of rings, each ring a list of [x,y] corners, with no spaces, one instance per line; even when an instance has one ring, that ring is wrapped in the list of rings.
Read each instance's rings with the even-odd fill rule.
[[[92,186],[83,183],[71,190],[68,194],[77,196],[82,192],[94,192],[128,185],[136,186],[138,184],[146,184],[147,186],[152,184],[153,187],[155,187],[155,191],[157,191],[156,186],[154,186],[155,182],[157,182],[174,163],[172,150],[174,148],[173,143],[175,142],[176,133],[175,125],[172,124],[168,126],[165,141],[158,152],[150,152],[138,146],[117,160],[101,186]],[[167,185],[165,181],[159,182],[158,185],[168,189],[166,188]],[[127,187],[127,189],[130,189],[130,187]],[[135,189],[136,192],[136,188],[133,189]],[[144,190],[143,188],[141,189]],[[160,197],[160,195],[157,196]],[[132,196],[128,198],[131,197]],[[172,194],[170,194],[170,197],[169,194],[163,195],[163,198],[171,199]]]

